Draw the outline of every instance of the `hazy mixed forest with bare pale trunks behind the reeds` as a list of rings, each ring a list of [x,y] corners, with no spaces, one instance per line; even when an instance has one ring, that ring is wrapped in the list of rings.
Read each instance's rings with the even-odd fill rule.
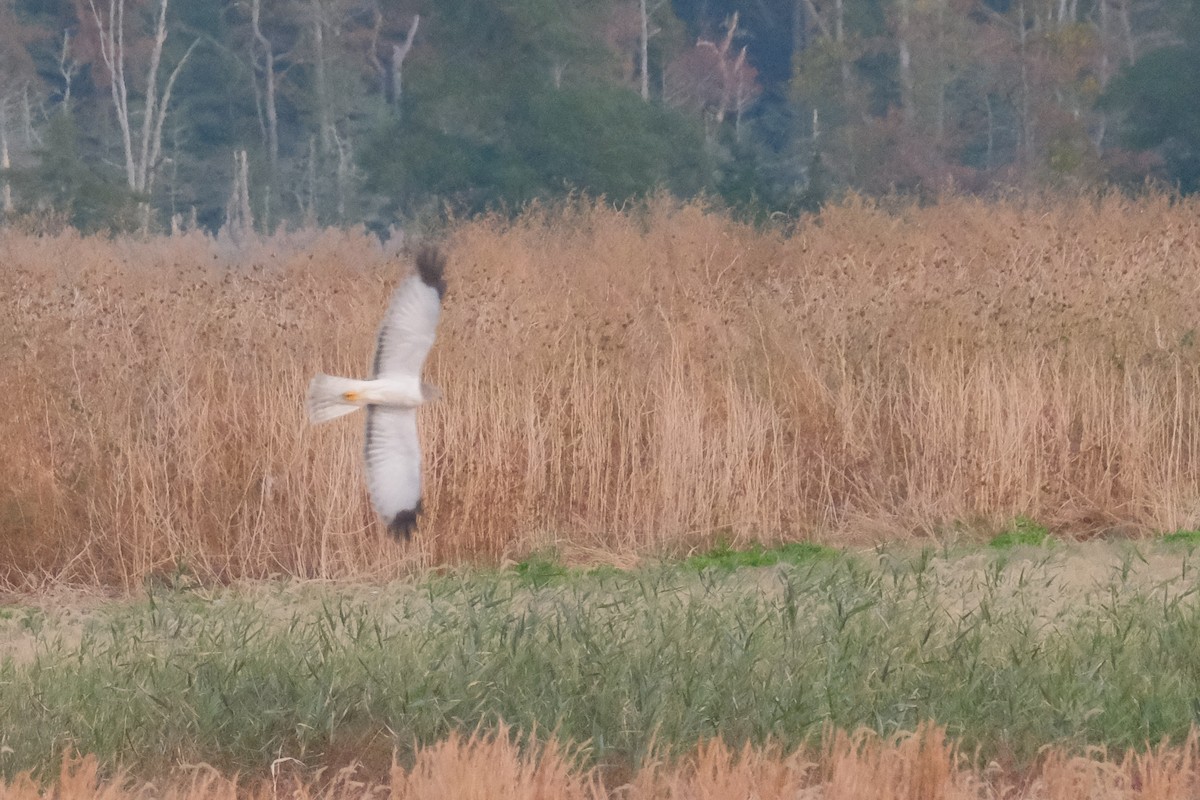
[[[1195,0],[0,0],[0,215],[1200,188]]]

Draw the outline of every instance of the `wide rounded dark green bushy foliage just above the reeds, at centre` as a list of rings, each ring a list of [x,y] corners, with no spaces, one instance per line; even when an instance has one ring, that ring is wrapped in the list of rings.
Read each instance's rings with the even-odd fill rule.
[[[548,88],[510,101],[492,126],[460,122],[458,133],[418,114],[390,122],[361,156],[367,187],[402,213],[431,198],[479,211],[572,191],[620,201],[706,187],[695,124],[628,90]]]

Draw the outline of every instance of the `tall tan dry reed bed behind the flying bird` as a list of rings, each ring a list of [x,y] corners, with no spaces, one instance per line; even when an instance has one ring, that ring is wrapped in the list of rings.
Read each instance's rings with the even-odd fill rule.
[[[1200,525],[1195,203],[851,200],[782,231],[581,201],[446,237],[404,549],[360,426],[302,410],[317,369],[365,371],[403,259],[0,234],[0,584]]]

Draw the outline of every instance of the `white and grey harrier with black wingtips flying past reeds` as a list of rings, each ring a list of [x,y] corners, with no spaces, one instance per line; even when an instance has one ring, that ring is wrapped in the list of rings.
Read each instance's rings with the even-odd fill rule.
[[[308,420],[324,422],[367,409],[366,467],[371,503],[396,539],[409,539],[421,511],[421,445],[416,407],[442,396],[421,381],[445,294],[445,257],[416,254],[416,275],[391,297],[379,327],[371,380],[318,374],[308,384]]]

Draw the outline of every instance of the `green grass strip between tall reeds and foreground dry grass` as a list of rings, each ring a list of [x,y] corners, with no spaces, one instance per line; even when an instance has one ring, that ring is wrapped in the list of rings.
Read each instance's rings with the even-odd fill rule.
[[[1024,763],[1048,742],[1183,736],[1200,722],[1189,557],[1176,548],[1166,570],[1130,551],[1085,571],[1064,551],[792,563],[782,548],[553,581],[158,589],[84,621],[11,607],[0,771],[53,772],[67,746],[136,774],[262,771],[371,734],[403,753],[498,720],[631,764],[652,742],[792,746],[828,722],[936,720],[984,758]],[[724,569],[743,558],[776,563]]]

